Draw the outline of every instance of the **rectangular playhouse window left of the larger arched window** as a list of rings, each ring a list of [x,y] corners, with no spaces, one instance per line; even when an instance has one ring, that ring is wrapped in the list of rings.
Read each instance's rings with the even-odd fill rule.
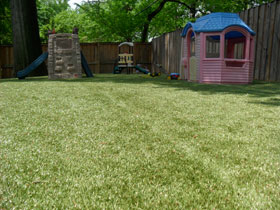
[[[206,36],[206,58],[220,57],[220,36]]]

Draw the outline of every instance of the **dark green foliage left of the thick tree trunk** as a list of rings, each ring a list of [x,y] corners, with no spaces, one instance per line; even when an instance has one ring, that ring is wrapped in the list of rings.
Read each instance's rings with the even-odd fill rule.
[[[9,2],[9,0],[0,1],[0,44],[12,43],[12,21]]]

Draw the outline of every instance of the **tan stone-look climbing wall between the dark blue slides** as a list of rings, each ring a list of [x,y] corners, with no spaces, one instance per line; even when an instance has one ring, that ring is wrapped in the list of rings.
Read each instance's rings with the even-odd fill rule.
[[[81,50],[77,34],[51,34],[48,52],[49,79],[82,77]]]

